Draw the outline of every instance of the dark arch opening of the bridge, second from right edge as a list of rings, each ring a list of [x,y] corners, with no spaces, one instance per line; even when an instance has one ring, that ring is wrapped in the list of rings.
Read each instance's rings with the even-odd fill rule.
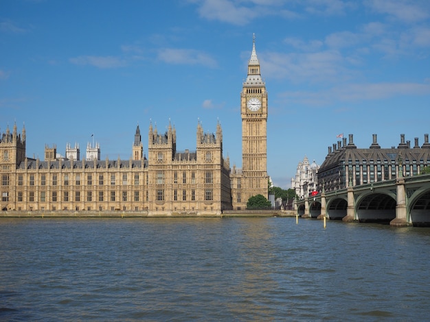
[[[396,206],[393,193],[366,193],[356,200],[355,216],[361,223],[389,223],[396,218]]]

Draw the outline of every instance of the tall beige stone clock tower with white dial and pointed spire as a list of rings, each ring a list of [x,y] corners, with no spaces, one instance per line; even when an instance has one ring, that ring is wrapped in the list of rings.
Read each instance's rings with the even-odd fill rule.
[[[253,36],[248,75],[240,95],[242,116],[242,206],[249,197],[268,197],[267,176],[267,91],[260,75],[260,62]]]

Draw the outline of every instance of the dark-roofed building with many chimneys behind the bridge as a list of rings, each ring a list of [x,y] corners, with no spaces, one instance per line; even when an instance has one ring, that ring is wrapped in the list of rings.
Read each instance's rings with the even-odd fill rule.
[[[326,160],[318,171],[319,191],[338,190],[361,184],[370,184],[400,176],[419,175],[422,168],[430,166],[429,134],[424,135],[424,144],[418,145],[415,138],[414,147],[410,141],[405,142],[405,134],[400,134],[398,147],[381,149],[376,134],[373,134],[372,145],[368,149],[357,149],[352,134],[328,147]]]

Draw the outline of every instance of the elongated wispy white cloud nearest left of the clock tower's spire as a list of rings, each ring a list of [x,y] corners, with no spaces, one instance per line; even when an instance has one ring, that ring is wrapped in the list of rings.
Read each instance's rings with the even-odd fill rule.
[[[168,64],[190,64],[216,67],[216,61],[207,53],[194,49],[161,49],[158,53],[159,60]]]

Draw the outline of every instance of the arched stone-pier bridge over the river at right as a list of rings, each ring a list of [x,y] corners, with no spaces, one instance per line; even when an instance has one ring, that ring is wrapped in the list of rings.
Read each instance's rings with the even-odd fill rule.
[[[430,226],[430,174],[398,177],[305,197],[298,216],[342,221]]]

